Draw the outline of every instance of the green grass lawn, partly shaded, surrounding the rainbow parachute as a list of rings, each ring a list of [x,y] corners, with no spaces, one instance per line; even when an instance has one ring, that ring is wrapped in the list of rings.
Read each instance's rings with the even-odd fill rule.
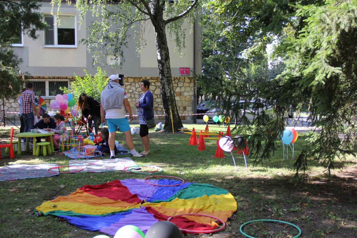
[[[135,126],[132,125],[131,126]],[[204,130],[205,125],[184,125]],[[213,126],[213,125],[212,125]],[[210,131],[226,129],[210,127]],[[17,130],[17,131],[16,131]],[[18,133],[16,128],[15,133]],[[0,141],[9,140],[10,127],[0,128]],[[239,227],[254,219],[275,219],[296,224],[304,238],[357,237],[357,159],[347,157],[336,160],[336,168],[329,178],[318,162],[311,160],[307,183],[295,184],[292,178],[294,161],[283,160],[279,147],[270,161],[253,166],[247,156],[248,169],[241,155],[233,154],[237,172],[230,153],[226,158],[213,158],[216,141],[205,141],[206,150],[187,145],[190,135],[167,134],[150,130],[150,154],[134,158],[137,164],[159,166],[164,172],[157,175],[175,176],[187,182],[209,183],[227,189],[237,201],[236,219],[228,220],[226,228],[214,233],[214,238],[244,237]],[[234,135],[234,132],[232,132]],[[142,151],[139,134],[133,141],[137,151]],[[304,143],[304,134],[299,133],[295,143],[296,156]],[[116,140],[124,143],[124,135],[116,133]],[[9,159],[1,149],[0,167],[9,164],[57,163],[68,165],[68,157],[59,155],[32,156],[23,153]],[[117,156],[117,157],[125,157]],[[91,232],[72,226],[53,216],[31,216],[30,212],[42,202],[66,196],[85,184],[101,184],[116,179],[147,177],[145,174],[123,171],[104,173],[62,173],[47,178],[18,179],[0,182],[1,237],[47,237],[47,238],[92,238],[99,232]],[[294,228],[276,223],[253,223],[247,225],[245,233],[253,237],[294,237]],[[188,236],[185,236],[188,237]],[[195,237],[205,237],[198,234]]]

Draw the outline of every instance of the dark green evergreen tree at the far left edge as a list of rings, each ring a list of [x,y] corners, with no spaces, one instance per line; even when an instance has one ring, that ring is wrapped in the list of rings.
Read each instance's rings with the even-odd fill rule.
[[[22,60],[14,53],[12,44],[19,43],[21,32],[37,39],[36,31],[45,28],[40,9],[35,1],[0,1],[0,91],[4,97],[21,92],[24,77],[19,64]]]

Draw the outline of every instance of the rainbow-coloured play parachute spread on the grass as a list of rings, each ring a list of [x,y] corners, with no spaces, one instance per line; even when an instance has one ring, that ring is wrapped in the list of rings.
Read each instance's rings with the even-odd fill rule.
[[[147,230],[158,221],[177,214],[199,213],[227,221],[237,203],[227,190],[202,183],[183,183],[174,179],[115,180],[85,185],[68,196],[59,196],[36,207],[37,215],[60,217],[90,231],[114,235],[126,225]],[[166,186],[165,186],[166,185]],[[170,220],[179,228],[204,231],[219,225],[210,217],[177,216]]]

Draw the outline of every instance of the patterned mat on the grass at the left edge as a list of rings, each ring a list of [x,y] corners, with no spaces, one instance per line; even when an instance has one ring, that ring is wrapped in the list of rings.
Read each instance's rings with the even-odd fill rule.
[[[58,168],[51,169],[48,173],[47,169],[57,167],[58,164],[11,164],[0,168],[0,181],[10,181],[25,178],[41,178],[51,177],[59,174]]]

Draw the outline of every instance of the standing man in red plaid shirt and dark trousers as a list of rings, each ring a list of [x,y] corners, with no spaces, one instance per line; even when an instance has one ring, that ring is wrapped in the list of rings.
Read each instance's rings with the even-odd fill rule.
[[[22,118],[25,122],[25,130],[24,132],[29,132],[31,128],[34,126],[35,116],[37,115],[37,119],[40,119],[40,114],[37,111],[37,107],[35,104],[35,93],[34,84],[28,82],[26,84],[26,90],[22,92]]]

